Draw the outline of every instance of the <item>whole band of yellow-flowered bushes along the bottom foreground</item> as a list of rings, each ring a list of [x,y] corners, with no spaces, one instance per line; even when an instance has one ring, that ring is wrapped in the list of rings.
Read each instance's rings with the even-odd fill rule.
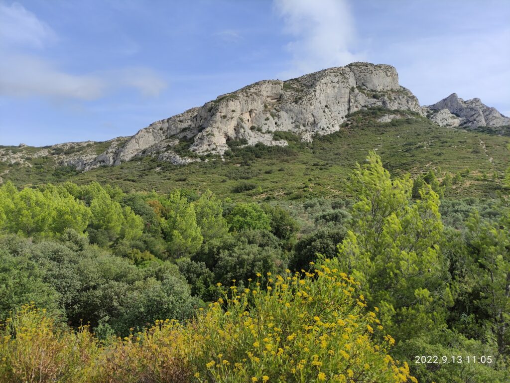
[[[0,381],[59,383],[244,383],[413,381],[387,354],[356,282],[326,260],[314,272],[267,275],[185,323],[157,321],[99,344],[84,327],[58,328],[24,307],[0,331]],[[269,289],[270,288],[270,289]]]

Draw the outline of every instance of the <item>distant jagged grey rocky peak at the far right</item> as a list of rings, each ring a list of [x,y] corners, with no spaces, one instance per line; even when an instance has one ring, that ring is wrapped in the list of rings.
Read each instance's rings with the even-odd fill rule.
[[[459,118],[460,125],[466,127],[478,126],[504,126],[510,125],[510,118],[503,116],[495,108],[490,108],[483,104],[479,98],[472,98],[464,101],[459,98],[456,93],[450,94],[448,97],[442,99],[436,104],[428,106],[432,111],[438,111],[437,114],[431,118],[435,118],[443,110],[448,110],[450,113]],[[445,113],[442,112],[444,116]],[[448,119],[449,117],[445,117]],[[442,117],[438,117],[439,120]],[[444,118],[443,118],[444,119]],[[451,119],[451,118],[450,118]]]

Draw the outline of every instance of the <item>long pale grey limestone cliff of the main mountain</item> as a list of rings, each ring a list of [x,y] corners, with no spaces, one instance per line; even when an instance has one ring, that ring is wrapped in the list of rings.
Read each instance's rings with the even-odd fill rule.
[[[424,116],[418,99],[398,84],[394,67],[352,63],[288,81],[260,81],[156,121],[132,137],[95,143],[99,147],[70,143],[49,150],[72,152],[59,161],[84,170],[142,156],[186,164],[200,161],[204,155],[223,156],[232,141],[288,145],[285,140],[273,139],[275,131],[292,132],[311,141],[315,135],[338,131],[349,113],[370,107]]]

